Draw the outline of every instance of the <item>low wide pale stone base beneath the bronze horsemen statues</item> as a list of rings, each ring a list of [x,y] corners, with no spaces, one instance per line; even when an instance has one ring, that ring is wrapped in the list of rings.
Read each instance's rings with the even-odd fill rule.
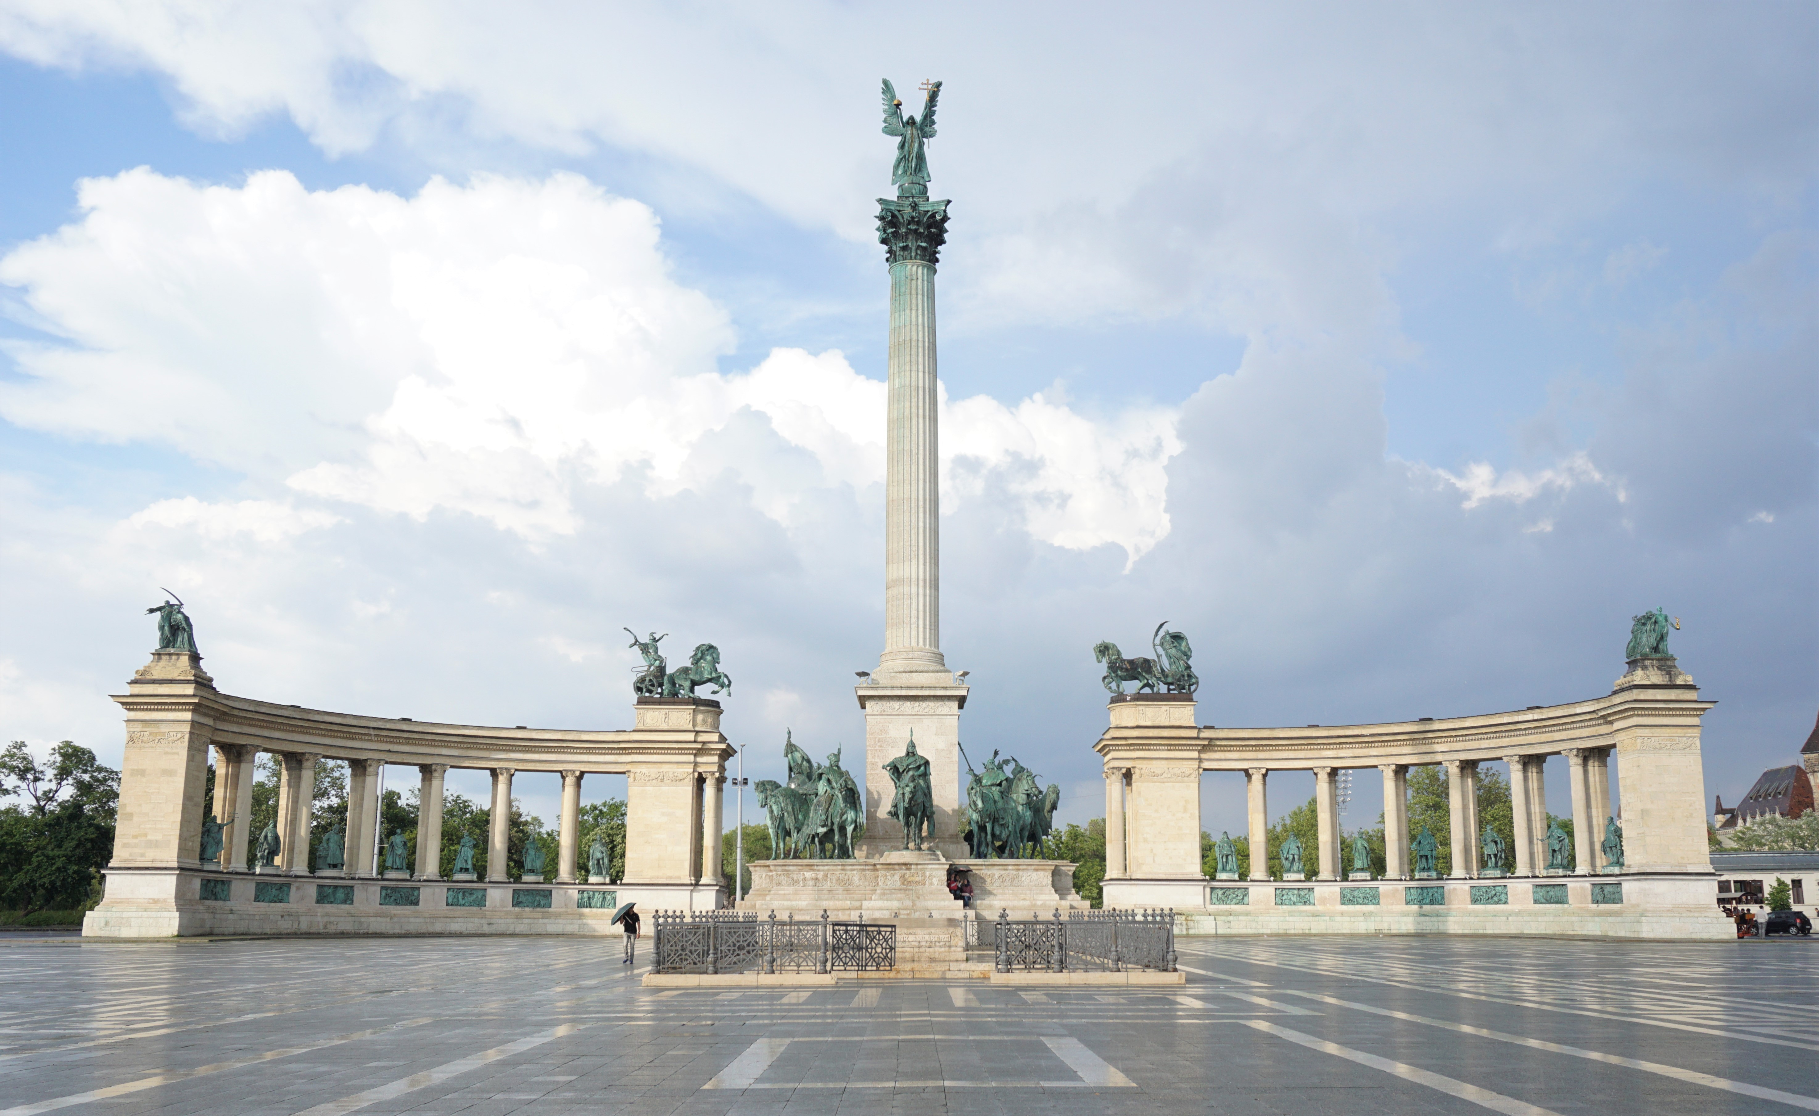
[[[779,918],[835,920],[959,918],[960,902],[948,891],[948,869],[962,867],[973,885],[973,909],[997,914],[1088,907],[1073,891],[1066,860],[953,860],[935,851],[897,849],[879,860],[755,860],[751,891],[740,911]]]

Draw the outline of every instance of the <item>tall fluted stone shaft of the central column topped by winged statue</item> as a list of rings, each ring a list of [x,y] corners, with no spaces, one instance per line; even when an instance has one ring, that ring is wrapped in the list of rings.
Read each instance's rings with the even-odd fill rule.
[[[884,440],[884,654],[880,673],[944,671],[940,654],[940,438],[935,265],[891,264]]]

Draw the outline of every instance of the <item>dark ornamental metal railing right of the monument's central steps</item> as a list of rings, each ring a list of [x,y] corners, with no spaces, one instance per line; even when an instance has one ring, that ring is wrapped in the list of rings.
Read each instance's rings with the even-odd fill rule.
[[[1053,918],[1011,920],[999,911],[995,923],[970,927],[980,940],[990,932],[999,972],[1124,972],[1175,971],[1175,911],[1070,911]]]

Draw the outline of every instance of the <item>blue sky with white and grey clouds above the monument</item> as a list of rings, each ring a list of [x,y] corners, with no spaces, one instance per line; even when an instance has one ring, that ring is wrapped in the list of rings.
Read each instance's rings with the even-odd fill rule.
[[[167,585],[229,693],[628,727],[629,625],[720,645],[748,774],[862,745],[879,78],[940,78],[970,751],[1086,820],[1097,640],[1353,723],[1608,693],[1663,605],[1735,800],[1819,712],[1814,56],[1810,4],[5,0],[0,731],[116,762]]]

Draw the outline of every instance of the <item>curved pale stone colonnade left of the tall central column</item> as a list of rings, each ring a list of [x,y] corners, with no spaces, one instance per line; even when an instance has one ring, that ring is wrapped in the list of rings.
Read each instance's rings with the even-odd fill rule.
[[[182,651],[153,653],[151,663],[115,700],[126,709],[127,722],[120,809],[115,854],[106,869],[107,894],[84,922],[87,936],[222,932],[222,912],[231,907],[202,902],[204,878],[256,874],[258,880],[276,882],[311,876],[309,803],[320,760],[349,765],[347,869],[318,871],[317,878],[375,878],[371,860],[360,860],[358,851],[371,849],[377,836],[378,772],[384,765],[406,765],[417,767],[422,780],[418,856],[411,882],[440,882],[444,778],[451,767],[462,767],[493,776],[487,880],[478,883],[506,883],[513,776],[549,771],[562,776],[560,854],[553,883],[584,880],[577,865],[582,780],[588,774],[624,774],[626,869],[624,880],[617,882],[618,898],[637,900],[646,909],[711,909],[720,907],[726,896],[720,802],[733,749],[720,734],[717,702],[640,698],[629,731],[446,725],[224,694],[202,671],[200,656]],[[218,756],[215,802],[204,802],[211,747]],[[276,829],[282,851],[275,871],[255,872],[246,856],[258,752],[280,758]],[[200,860],[202,823],[209,812],[226,823],[226,862],[218,865]],[[260,914],[258,927],[287,929],[286,912]],[[397,929],[391,912],[371,914],[377,918],[373,925],[366,925],[358,912],[347,912],[335,927]],[[311,925],[322,929],[326,923]],[[464,927],[449,923],[444,929]]]

